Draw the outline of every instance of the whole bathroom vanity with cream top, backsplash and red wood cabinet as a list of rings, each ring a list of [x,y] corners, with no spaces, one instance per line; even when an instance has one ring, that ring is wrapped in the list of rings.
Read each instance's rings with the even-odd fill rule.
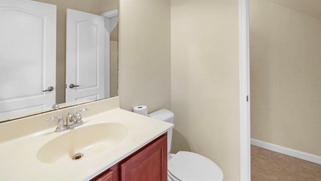
[[[82,109],[70,130],[46,121]],[[173,126],[120,109],[118,97],[1,123],[0,180],[167,180]]]

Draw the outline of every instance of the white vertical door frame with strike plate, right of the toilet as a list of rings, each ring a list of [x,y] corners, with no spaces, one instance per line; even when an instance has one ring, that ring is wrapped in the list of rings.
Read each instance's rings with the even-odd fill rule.
[[[251,180],[249,0],[239,0],[240,180]]]

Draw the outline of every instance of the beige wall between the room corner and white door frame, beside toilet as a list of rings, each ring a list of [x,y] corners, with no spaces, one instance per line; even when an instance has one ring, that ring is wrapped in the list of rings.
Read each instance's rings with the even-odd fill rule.
[[[237,0],[172,0],[173,152],[215,161],[239,180]]]

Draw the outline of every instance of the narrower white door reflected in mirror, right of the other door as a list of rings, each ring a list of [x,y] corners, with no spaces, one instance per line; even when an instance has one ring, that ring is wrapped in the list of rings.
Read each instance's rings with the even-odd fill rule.
[[[103,99],[104,18],[67,9],[66,26],[66,103]]]

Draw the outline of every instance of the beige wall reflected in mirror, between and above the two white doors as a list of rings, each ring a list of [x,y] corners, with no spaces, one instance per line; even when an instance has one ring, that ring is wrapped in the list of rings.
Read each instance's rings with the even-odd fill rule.
[[[73,9],[91,14],[117,9],[117,0],[36,0],[57,5],[57,69],[56,69],[56,103],[65,103],[66,74],[66,9]]]

